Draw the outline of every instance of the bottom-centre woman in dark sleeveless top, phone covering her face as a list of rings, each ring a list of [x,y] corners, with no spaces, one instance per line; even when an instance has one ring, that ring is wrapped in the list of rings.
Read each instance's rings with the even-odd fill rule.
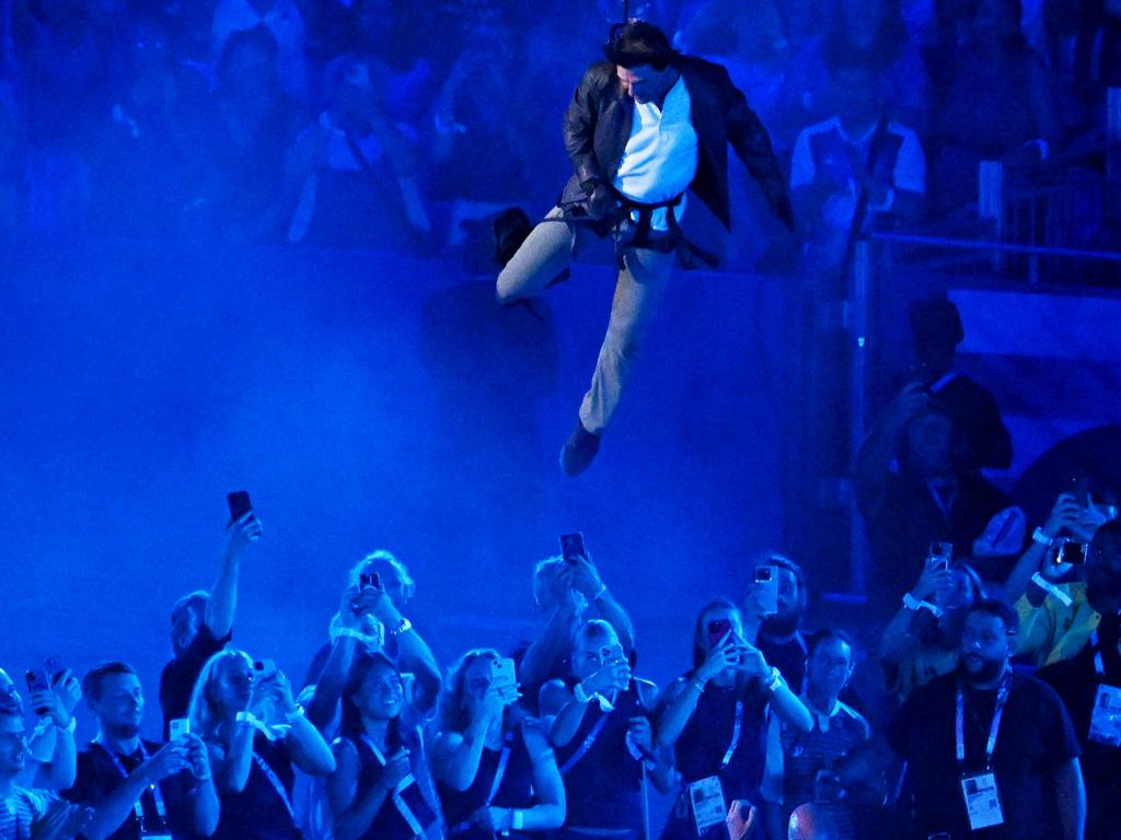
[[[673,756],[656,749],[658,687],[631,673],[614,628],[586,622],[573,642],[572,675],[541,687],[543,722],[557,753],[567,815],[562,838],[643,837],[647,773],[668,793]]]

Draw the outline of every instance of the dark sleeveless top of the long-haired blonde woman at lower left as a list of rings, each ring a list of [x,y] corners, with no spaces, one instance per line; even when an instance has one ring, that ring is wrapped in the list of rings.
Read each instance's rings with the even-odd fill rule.
[[[280,784],[284,795],[269,780],[261,762]],[[212,840],[300,840],[303,834],[291,813],[294,781],[285,743],[271,741],[257,732],[244,788],[241,793],[220,794],[221,818]]]

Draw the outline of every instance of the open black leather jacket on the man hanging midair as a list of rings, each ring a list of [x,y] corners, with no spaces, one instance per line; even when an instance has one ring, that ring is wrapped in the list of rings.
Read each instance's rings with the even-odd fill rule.
[[[793,227],[789,188],[767,129],[732,84],[728,71],[702,58],[679,56],[697,132],[697,172],[689,189],[731,230],[728,198],[728,146],[759,183],[771,211]],[[562,202],[580,202],[599,180],[611,183],[630,138],[634,102],[623,90],[610,62],[594,64],[584,74],[564,118],[564,141],[574,174]]]

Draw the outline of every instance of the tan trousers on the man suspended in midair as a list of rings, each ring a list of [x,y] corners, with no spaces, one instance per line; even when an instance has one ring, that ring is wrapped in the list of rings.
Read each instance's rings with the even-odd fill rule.
[[[595,239],[586,227],[552,221],[560,216],[560,208],[554,207],[502,269],[497,283],[500,301],[510,302],[540,293],[568,268],[581,244]],[[608,428],[619,407],[674,264],[673,253],[641,248],[624,248],[622,258],[608,334],[600,347],[592,384],[580,407],[580,422],[594,435]]]

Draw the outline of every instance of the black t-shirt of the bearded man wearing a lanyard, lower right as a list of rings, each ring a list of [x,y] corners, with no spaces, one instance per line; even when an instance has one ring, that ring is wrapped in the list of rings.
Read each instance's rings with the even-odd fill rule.
[[[954,727],[957,674],[916,690],[888,726],[891,748],[908,762],[906,796],[912,802],[917,836],[948,831],[986,840],[1041,840],[1060,836],[1054,773],[1081,750],[1071,718],[1044,682],[1012,674],[997,737],[997,775],[1004,824],[972,834],[962,795]],[[984,750],[997,690],[965,689],[965,771],[984,772]]]

